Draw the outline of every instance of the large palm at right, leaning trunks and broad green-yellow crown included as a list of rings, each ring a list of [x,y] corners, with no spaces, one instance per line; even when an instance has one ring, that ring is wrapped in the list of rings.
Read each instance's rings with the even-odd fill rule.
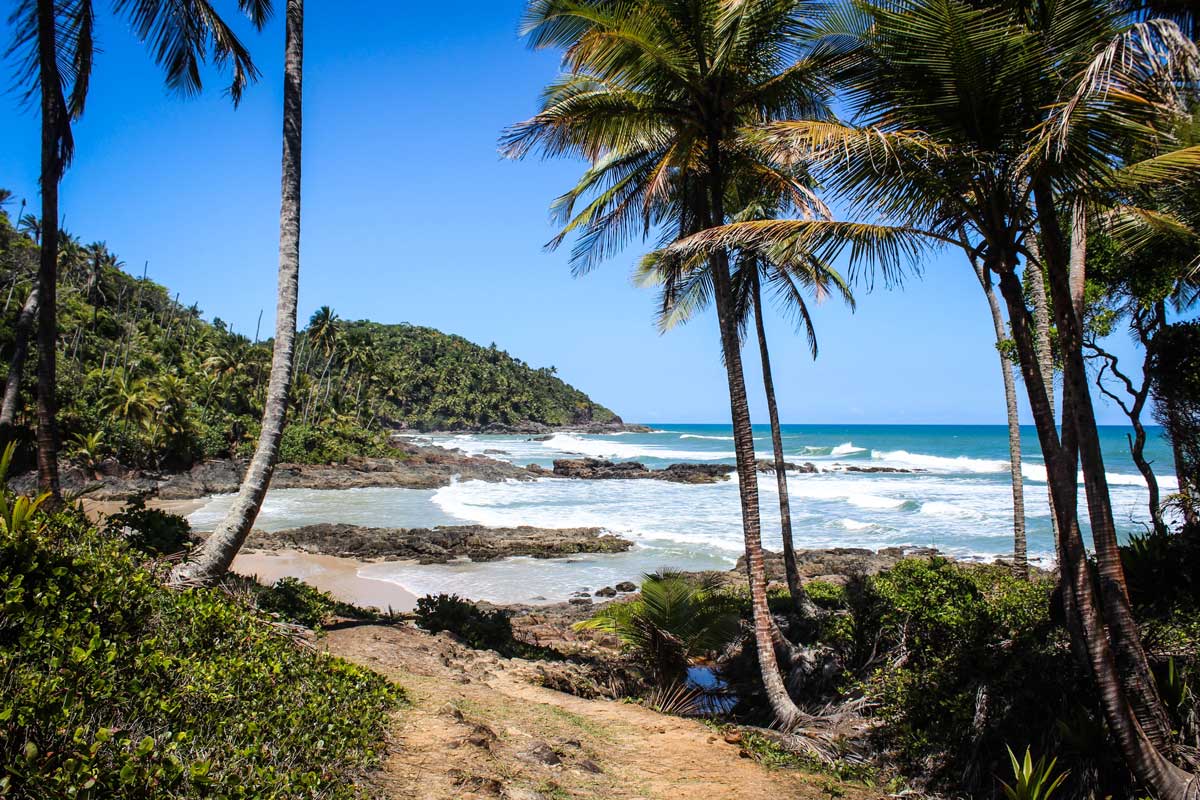
[[[998,277],[1008,306],[1054,498],[1068,624],[1081,634],[1106,721],[1129,766],[1159,796],[1190,796],[1192,776],[1163,754],[1170,750],[1170,728],[1124,589],[1075,311],[1078,276],[1070,261],[1079,270],[1082,259],[1070,258],[1060,213],[1105,184],[1171,180],[1195,169],[1196,154],[1182,152],[1151,169],[1114,170],[1122,155],[1114,152],[1115,144],[1153,144],[1163,136],[1156,115],[1180,106],[1164,94],[1194,85],[1195,74],[1164,72],[1194,64],[1194,47],[1166,24],[1123,28],[1106,4],[1091,0],[1052,7],[856,1],[830,24],[830,34],[829,47],[846,56],[853,106],[868,127],[774,125],[755,140],[778,157],[800,154],[821,164],[858,212],[882,212],[899,224],[742,223],[694,236],[676,251],[772,246],[814,252],[848,242],[854,255],[895,261],[930,242],[961,246],[955,233],[968,231],[965,247]],[[1034,236],[1063,359],[1061,437],[1018,275],[1021,259],[1031,258],[1025,241]],[[1081,236],[1072,239],[1082,243]],[[1080,462],[1102,606],[1078,521]]]

